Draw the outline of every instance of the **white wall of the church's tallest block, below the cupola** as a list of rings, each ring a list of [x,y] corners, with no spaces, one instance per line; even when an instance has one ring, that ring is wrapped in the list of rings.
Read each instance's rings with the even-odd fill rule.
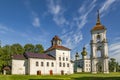
[[[59,60],[59,57],[61,57],[61,60]],[[64,60],[63,60],[64,58]],[[66,60],[66,58],[68,60]],[[59,66],[59,63],[61,62],[61,67]],[[65,63],[65,67],[63,66],[63,63]],[[67,66],[69,64],[69,67]],[[73,73],[73,64],[70,62],[70,51],[65,50],[56,50],[56,65],[57,65],[57,73],[61,74],[61,71],[64,71],[64,74],[72,74]]]

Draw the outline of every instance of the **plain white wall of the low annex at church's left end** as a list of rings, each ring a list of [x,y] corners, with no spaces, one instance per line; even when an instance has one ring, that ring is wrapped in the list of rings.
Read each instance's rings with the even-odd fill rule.
[[[26,74],[25,73],[25,60],[12,60],[12,74]]]

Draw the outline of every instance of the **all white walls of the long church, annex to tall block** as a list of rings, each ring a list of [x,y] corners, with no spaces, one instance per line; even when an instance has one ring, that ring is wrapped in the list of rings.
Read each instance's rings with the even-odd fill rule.
[[[26,60],[13,59],[12,74],[37,75],[37,71],[41,71],[41,75],[49,75],[50,70],[53,71],[53,75],[61,74],[61,71],[64,71],[64,74],[73,73],[73,63],[70,61],[70,51],[52,50],[47,52],[47,54],[54,56],[55,60],[38,58],[28,58]],[[59,60],[59,57],[61,57],[61,60]],[[36,66],[36,62],[38,62],[38,66]],[[43,66],[41,66],[41,62],[43,62]],[[47,62],[49,62],[49,66],[47,66]],[[54,63],[53,67],[51,66],[52,62]],[[62,63],[61,67],[59,66],[60,62]],[[63,63],[65,63],[65,67],[63,66]],[[69,64],[69,66],[67,66],[67,64]]]

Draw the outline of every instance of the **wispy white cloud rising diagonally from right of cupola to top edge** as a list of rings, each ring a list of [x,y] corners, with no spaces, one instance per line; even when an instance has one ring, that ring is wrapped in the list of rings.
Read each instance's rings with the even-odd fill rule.
[[[66,40],[64,43],[65,46],[70,47],[71,49],[75,49],[77,46],[79,46],[80,42],[83,40],[81,29],[87,23],[88,14],[94,9],[95,2],[96,0],[94,0],[91,4],[88,4],[88,2],[85,1],[85,3],[83,3],[78,10],[79,15],[74,17],[73,21],[70,23],[70,25],[72,25],[71,31],[67,32],[64,30],[67,32],[62,36],[62,38]],[[85,6],[88,6],[89,8],[86,9]],[[74,29],[75,27],[76,29]]]

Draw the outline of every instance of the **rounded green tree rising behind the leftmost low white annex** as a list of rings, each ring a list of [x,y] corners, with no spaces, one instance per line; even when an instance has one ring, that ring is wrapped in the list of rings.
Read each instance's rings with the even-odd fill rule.
[[[11,52],[12,54],[23,54],[24,48],[20,44],[16,43],[11,46]]]

